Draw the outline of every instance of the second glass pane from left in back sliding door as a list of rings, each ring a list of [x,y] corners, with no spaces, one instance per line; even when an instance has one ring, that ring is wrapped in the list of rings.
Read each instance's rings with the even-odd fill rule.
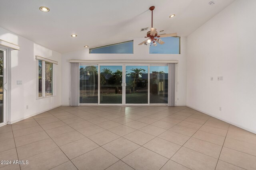
[[[122,104],[122,66],[100,66],[100,103]]]

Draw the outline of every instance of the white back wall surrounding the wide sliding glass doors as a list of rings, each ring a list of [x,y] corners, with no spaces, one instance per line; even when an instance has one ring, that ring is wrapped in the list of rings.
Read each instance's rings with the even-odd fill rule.
[[[177,105],[186,105],[186,37],[181,37],[180,55],[149,54],[149,47],[134,39],[134,54],[89,54],[89,49],[62,54],[62,105],[70,104],[70,59],[78,60],[178,60]]]

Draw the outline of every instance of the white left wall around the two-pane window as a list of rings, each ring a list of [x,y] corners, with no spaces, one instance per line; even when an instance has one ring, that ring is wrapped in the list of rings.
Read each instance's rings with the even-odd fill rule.
[[[20,46],[20,51],[11,52],[11,111],[8,121],[29,117],[61,105],[61,54],[0,28],[0,39]],[[57,96],[36,100],[35,55],[58,61]],[[22,80],[22,85],[16,81]],[[28,105],[28,109],[26,109]]]

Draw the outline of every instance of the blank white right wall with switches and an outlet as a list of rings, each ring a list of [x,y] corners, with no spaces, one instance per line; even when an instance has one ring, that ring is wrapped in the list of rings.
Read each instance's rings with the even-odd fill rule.
[[[187,106],[254,133],[255,7],[255,0],[236,0],[187,37],[186,100]]]

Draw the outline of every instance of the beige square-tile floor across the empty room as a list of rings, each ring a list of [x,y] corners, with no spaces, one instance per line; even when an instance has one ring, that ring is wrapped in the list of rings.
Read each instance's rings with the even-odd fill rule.
[[[189,107],[61,106],[0,127],[0,170],[256,169],[256,135]]]

